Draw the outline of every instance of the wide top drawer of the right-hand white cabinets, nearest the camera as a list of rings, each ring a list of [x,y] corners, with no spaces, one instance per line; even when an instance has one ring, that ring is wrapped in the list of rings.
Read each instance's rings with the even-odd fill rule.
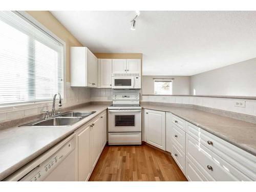
[[[217,154],[251,180],[256,180],[256,157],[233,144],[187,122],[186,133]]]

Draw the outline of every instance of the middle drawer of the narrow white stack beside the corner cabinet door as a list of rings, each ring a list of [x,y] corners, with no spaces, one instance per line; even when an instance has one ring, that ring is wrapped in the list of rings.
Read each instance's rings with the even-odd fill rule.
[[[180,150],[185,153],[185,142],[186,142],[186,132],[181,130],[178,126],[172,126],[172,140],[180,148]]]

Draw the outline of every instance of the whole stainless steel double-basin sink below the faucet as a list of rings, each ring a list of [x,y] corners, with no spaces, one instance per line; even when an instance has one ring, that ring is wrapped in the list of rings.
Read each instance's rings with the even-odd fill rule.
[[[94,113],[95,111],[65,112],[49,119],[38,120],[20,126],[70,126]]]

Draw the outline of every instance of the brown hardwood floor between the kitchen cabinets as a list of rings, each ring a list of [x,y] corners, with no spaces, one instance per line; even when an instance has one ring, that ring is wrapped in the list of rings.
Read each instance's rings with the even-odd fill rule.
[[[174,159],[155,148],[106,145],[89,181],[187,181]]]

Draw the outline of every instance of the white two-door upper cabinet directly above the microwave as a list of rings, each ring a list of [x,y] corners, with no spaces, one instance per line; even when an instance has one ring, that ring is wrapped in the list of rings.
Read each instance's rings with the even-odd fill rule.
[[[112,74],[137,74],[141,75],[140,59],[112,59]]]

